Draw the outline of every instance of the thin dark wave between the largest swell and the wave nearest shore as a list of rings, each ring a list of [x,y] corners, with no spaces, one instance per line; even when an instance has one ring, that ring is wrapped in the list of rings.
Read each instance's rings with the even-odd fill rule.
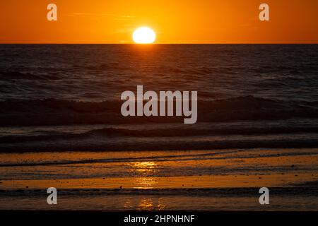
[[[66,132],[42,132],[45,135],[16,135],[0,136],[0,143],[30,142],[30,141],[57,141],[65,139],[85,139],[93,136],[99,138],[152,138],[152,137],[193,137],[193,136],[258,136],[269,134],[295,134],[295,133],[318,133],[318,127],[269,127],[269,128],[216,128],[216,129],[187,129],[187,128],[167,128],[167,129],[117,129],[103,128],[92,129],[83,133]]]

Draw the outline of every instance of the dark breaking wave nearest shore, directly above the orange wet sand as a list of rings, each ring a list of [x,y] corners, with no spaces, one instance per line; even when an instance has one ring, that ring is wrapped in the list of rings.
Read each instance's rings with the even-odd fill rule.
[[[226,137],[223,140],[194,140],[193,138],[178,139],[172,138],[141,138],[141,139],[65,139],[59,141],[43,142],[13,142],[1,143],[0,153],[25,153],[25,152],[64,152],[64,151],[85,151],[85,152],[111,152],[111,151],[163,151],[163,150],[224,150],[235,148],[318,148],[317,138],[306,138],[303,136],[285,136],[285,138],[259,137],[257,139],[232,139]]]

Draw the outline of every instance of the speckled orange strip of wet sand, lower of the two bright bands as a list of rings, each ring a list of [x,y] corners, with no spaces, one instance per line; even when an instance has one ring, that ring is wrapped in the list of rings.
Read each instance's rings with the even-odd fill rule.
[[[290,187],[318,180],[317,174],[203,175],[189,177],[122,177],[91,179],[39,179],[1,181],[2,190],[46,189],[192,189]]]

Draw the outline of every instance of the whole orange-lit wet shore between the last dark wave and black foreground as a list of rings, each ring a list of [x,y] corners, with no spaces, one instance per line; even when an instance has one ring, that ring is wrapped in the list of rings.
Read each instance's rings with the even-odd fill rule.
[[[317,154],[314,148],[1,153],[0,209],[313,210]],[[47,205],[51,186],[57,206]],[[259,204],[263,186],[268,206]]]

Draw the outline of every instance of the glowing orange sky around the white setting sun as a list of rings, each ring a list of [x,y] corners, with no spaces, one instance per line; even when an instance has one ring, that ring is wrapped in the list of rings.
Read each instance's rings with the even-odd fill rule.
[[[131,43],[143,25],[157,43],[318,43],[317,10],[317,0],[1,0],[0,43]]]

